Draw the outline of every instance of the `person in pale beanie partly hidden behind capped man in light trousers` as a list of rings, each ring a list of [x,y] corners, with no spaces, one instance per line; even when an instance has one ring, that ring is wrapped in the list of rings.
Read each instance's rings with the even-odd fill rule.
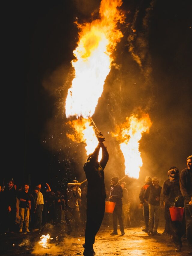
[[[141,188],[139,199],[140,199],[140,206],[143,208],[143,218],[145,220],[145,228],[142,231],[148,233],[149,232],[149,204],[144,200],[144,192],[146,189],[152,185],[152,179],[149,176],[145,178],[145,185]]]

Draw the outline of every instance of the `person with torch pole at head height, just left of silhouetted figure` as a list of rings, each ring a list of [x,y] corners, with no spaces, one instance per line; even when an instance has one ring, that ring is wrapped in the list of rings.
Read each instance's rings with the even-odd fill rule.
[[[78,231],[80,224],[79,200],[81,199],[81,189],[79,188],[79,182],[77,180],[73,180],[72,183],[74,183],[74,185],[67,184],[67,200],[65,212],[67,235],[70,235],[72,231],[72,220],[75,223],[75,231]]]

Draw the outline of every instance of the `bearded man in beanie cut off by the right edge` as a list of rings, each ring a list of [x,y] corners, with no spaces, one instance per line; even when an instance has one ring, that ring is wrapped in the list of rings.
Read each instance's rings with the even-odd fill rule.
[[[185,225],[186,236],[189,245],[189,255],[192,255],[192,217],[189,209],[192,205],[192,155],[187,157],[187,168],[183,169],[180,174],[180,189],[184,197]],[[189,205],[189,206],[187,206]]]

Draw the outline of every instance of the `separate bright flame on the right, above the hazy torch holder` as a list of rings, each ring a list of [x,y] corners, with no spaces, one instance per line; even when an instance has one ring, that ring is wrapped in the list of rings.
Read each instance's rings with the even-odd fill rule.
[[[143,166],[141,153],[139,151],[139,141],[143,132],[149,132],[152,126],[148,114],[131,115],[126,118],[126,122],[116,127],[116,132],[112,133],[120,142],[120,148],[125,158],[125,174],[131,178],[139,178],[140,167]]]

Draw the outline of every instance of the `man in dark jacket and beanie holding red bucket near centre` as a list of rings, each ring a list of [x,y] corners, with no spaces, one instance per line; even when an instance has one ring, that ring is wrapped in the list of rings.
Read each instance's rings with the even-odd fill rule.
[[[109,196],[109,201],[116,203],[115,209],[113,211],[113,232],[111,235],[117,235],[117,218],[119,220],[119,226],[122,236],[125,235],[123,219],[122,219],[122,197],[123,189],[119,185],[118,177],[113,177],[111,179],[111,192]]]

